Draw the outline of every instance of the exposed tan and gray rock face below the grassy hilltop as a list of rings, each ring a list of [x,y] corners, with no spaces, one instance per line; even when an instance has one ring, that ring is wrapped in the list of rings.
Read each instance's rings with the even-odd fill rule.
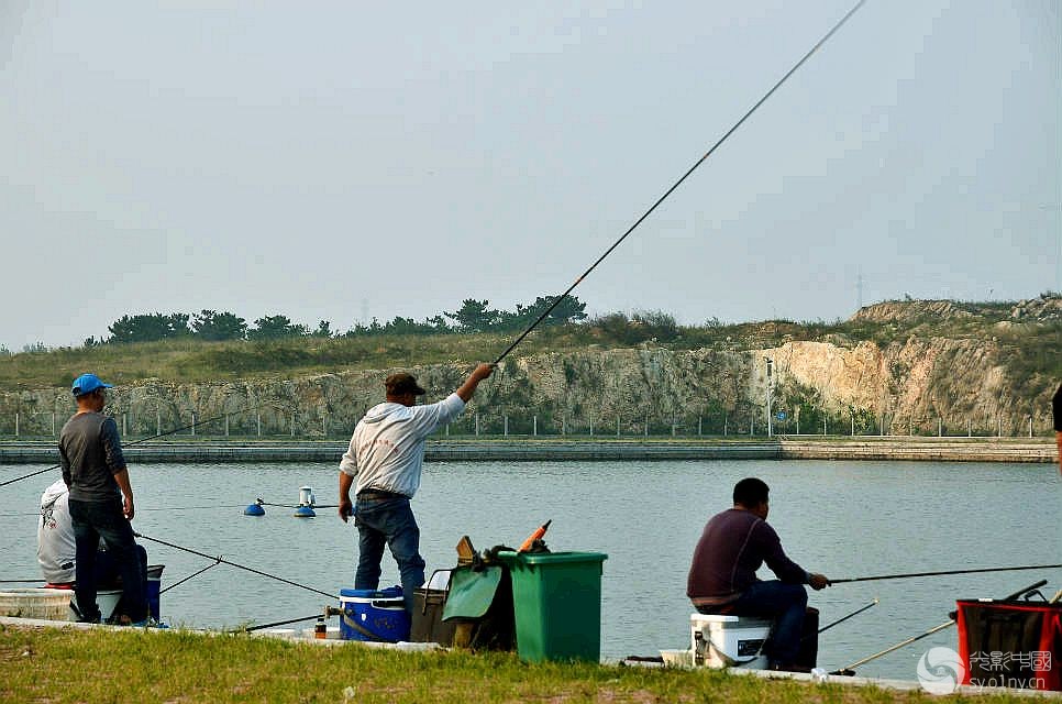
[[[485,433],[508,427],[510,433],[540,435],[591,429],[624,436],[763,435],[765,360],[771,359],[777,432],[822,432],[825,424],[830,433],[884,428],[886,433],[936,435],[940,427],[950,435],[1025,436],[1031,417],[1035,432],[1047,433],[1058,380],[1036,377],[1031,387],[1026,385],[1035,391],[1017,396],[1007,371],[1013,353],[994,340],[911,337],[884,346],[793,341],[734,352],[643,344],[510,358],[480,386],[451,431],[469,433],[478,426]],[[217,384],[148,381],[114,389],[109,411],[130,437],[186,426],[180,435],[191,435],[195,422],[197,435],[336,438],[347,436],[365,410],[383,400],[383,380],[395,371]],[[468,367],[409,371],[432,402],[456,388]],[[71,410],[65,389],[0,396],[0,435],[12,433],[18,415],[20,436],[51,437],[52,415],[57,431]],[[784,419],[777,418],[779,411]]]

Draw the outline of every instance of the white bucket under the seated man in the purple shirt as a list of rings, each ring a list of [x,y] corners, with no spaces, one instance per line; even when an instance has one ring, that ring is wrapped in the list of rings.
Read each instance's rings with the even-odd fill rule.
[[[694,662],[709,668],[766,669],[763,644],[770,634],[771,622],[752,616],[693,614],[689,617]]]

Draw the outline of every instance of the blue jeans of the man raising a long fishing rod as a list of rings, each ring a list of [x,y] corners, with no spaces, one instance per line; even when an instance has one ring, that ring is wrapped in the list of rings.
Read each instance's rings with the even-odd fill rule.
[[[424,559],[420,557],[420,528],[408,498],[358,498],[354,507],[357,526],[357,572],[354,588],[379,588],[384,544],[391,550],[402,575],[402,600],[413,613],[413,590],[424,583]]]

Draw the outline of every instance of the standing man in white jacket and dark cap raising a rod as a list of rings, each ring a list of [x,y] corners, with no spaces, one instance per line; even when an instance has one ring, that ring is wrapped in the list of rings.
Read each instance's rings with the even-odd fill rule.
[[[384,544],[402,575],[406,610],[413,610],[413,590],[424,583],[420,557],[420,528],[409,499],[420,487],[424,442],[436,428],[465,409],[479,382],[494,364],[479,364],[457,391],[436,404],[418,406],[424,389],[410,374],[391,374],[384,381],[387,397],[366,411],[354,428],[351,447],[340,462],[340,518],[354,516],[357,526],[357,572],[354,588],[379,587]],[[355,485],[356,504],[351,503]]]

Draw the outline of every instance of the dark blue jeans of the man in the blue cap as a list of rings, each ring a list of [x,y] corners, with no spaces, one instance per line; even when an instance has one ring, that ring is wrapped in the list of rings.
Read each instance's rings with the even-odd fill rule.
[[[132,622],[147,617],[147,601],[144,598],[144,568],[141,565],[140,551],[133,540],[133,527],[122,513],[122,499],[102,502],[81,502],[70,499],[70,519],[74,524],[74,543],[77,556],[77,582],[74,593],[84,620],[99,620],[100,609],[96,604],[96,551],[100,538],[107,543],[107,551],[118,564],[122,575],[122,608]]]

